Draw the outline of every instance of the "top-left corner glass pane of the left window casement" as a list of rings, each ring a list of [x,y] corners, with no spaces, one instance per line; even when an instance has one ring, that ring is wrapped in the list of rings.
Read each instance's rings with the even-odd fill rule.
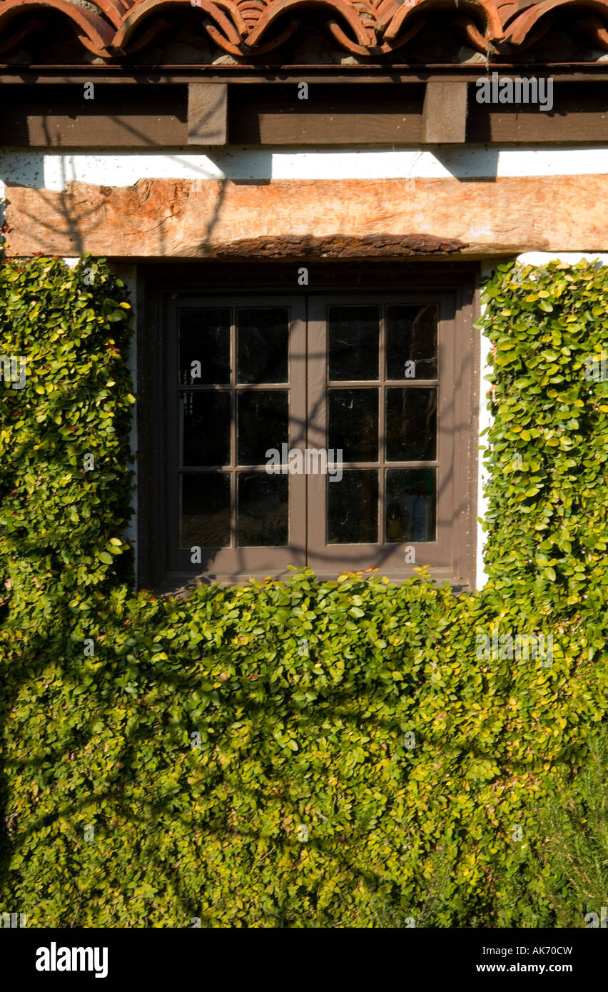
[[[230,382],[230,310],[180,310],[182,386]]]

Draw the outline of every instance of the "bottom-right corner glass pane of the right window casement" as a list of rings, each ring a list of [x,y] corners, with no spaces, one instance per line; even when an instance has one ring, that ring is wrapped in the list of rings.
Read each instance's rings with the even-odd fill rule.
[[[435,540],[435,468],[389,468],[386,474],[386,540]]]

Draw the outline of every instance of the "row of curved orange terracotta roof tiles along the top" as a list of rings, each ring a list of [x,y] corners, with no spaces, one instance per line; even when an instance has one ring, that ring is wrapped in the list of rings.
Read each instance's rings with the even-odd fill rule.
[[[608,0],[0,0],[0,53],[23,46],[53,11],[93,56],[117,62],[156,45],[176,12],[192,7],[201,37],[237,60],[279,53],[310,11],[339,49],[359,58],[390,57],[446,11],[457,15],[450,30],[459,44],[483,55],[525,51],[564,11],[583,46],[608,51]]]

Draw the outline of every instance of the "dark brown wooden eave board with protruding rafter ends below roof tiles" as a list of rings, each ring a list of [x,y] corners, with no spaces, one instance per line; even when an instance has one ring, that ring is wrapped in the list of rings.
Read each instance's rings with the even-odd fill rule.
[[[480,73],[483,77],[485,73]],[[513,73],[511,73],[513,75]],[[298,84],[5,84],[0,145],[15,148],[199,148],[605,143],[608,79],[554,82],[550,113],[484,104],[462,79]]]

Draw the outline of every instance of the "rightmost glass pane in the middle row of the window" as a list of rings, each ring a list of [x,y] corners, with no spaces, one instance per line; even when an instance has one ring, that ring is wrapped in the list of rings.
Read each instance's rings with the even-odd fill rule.
[[[387,461],[432,461],[437,449],[437,390],[387,389]]]

